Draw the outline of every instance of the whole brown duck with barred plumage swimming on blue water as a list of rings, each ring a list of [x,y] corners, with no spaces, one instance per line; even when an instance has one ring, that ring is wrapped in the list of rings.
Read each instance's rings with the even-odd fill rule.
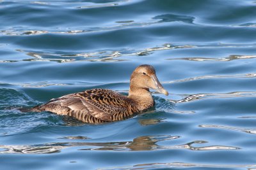
[[[141,65],[131,74],[129,96],[107,89],[92,89],[51,99],[30,111],[51,111],[91,124],[124,120],[154,106],[149,89],[168,95],[158,81],[154,67]]]

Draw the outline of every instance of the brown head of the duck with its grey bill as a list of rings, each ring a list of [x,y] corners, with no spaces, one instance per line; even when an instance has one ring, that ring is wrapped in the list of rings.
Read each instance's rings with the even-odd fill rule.
[[[168,96],[167,90],[163,88],[156,76],[154,67],[147,64],[136,67],[132,72],[130,90],[136,89],[145,89],[147,91],[149,91],[149,89],[154,89],[157,90],[157,92]]]

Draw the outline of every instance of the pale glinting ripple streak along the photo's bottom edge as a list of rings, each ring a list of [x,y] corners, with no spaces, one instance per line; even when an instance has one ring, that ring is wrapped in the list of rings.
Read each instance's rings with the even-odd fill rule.
[[[166,163],[151,163],[151,164],[137,164],[133,166],[119,166],[119,167],[108,167],[108,168],[100,168],[104,169],[162,169],[162,168],[188,168],[188,167],[197,167],[197,168],[232,168],[232,169],[254,169],[256,168],[256,164],[244,164],[244,165],[236,165],[236,164],[191,164],[184,162],[166,162]]]

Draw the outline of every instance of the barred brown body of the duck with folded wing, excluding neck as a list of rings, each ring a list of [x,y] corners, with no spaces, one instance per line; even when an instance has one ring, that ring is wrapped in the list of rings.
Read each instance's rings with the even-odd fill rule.
[[[52,99],[38,108],[92,123],[124,119],[128,113],[128,104],[127,97],[122,94],[93,89]]]

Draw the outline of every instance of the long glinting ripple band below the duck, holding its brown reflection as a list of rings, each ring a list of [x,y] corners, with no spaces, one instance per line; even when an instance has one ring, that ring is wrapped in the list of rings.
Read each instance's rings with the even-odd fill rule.
[[[143,151],[143,150],[174,150],[174,149],[188,149],[188,150],[237,150],[239,148],[234,146],[193,146],[194,144],[207,143],[207,141],[193,141],[184,145],[174,146],[160,146],[157,145],[159,141],[169,141],[180,138],[180,136],[140,136],[133,139],[133,141],[118,141],[105,143],[90,143],[90,142],[66,142],[66,143],[47,143],[43,145],[30,146],[15,146],[15,145],[0,145],[0,153],[57,153],[64,148],[72,146],[81,146],[79,150],[115,150],[115,151]],[[61,139],[88,139],[87,137],[63,137]]]

